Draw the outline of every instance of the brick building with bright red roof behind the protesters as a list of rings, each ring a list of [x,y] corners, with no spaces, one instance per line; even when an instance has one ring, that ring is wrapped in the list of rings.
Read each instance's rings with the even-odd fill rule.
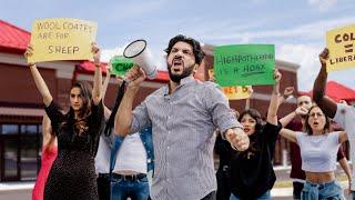
[[[0,20],[0,182],[34,180],[40,168],[42,99],[34,86],[23,57],[30,41],[30,32]],[[166,41],[168,43],[168,41]],[[204,44],[207,57],[200,67],[196,78],[207,80],[207,70],[213,68],[213,47]],[[297,90],[298,66],[276,61],[283,73],[282,89],[294,86]],[[74,80],[92,80],[93,64],[89,61],[55,61],[38,63],[55,102],[68,108],[69,90]],[[160,71],[158,79],[146,80],[139,91],[135,103],[169,81],[169,74]],[[272,87],[254,87],[251,107],[266,113]],[[115,80],[111,78],[105,103],[113,106],[116,92]],[[231,101],[236,110],[244,108],[243,101]],[[281,108],[281,116],[293,111],[295,101]],[[275,164],[282,163],[284,140],[278,140]]]

